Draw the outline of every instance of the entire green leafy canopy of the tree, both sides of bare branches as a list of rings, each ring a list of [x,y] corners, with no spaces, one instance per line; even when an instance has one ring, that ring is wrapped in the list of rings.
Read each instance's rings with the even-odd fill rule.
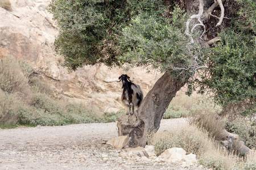
[[[256,2],[230,3],[239,9],[226,10],[233,17],[219,33],[221,42],[208,50],[189,44],[185,11],[162,1],[53,0],[48,10],[59,24],[54,48],[69,70],[96,63],[152,65],[187,82],[188,94],[210,90],[218,104],[229,107],[256,96]],[[193,77],[204,65],[208,67],[200,76]]]

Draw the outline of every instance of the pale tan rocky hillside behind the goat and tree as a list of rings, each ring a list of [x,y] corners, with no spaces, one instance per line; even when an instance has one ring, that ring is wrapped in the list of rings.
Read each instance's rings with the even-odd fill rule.
[[[52,15],[46,10],[50,0],[10,0],[12,11],[0,7],[0,57],[22,58],[34,73],[53,88],[56,99],[85,103],[98,111],[122,109],[121,74],[127,74],[142,87],[144,96],[160,74],[146,69],[129,71],[104,65],[84,66],[68,73],[60,64],[63,57],[52,50],[58,33]]]

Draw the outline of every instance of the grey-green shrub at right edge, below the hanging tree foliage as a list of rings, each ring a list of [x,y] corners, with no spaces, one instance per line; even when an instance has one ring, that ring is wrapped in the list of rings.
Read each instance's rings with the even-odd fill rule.
[[[249,148],[256,148],[256,126],[251,122],[240,119],[226,121],[225,129],[230,133],[238,134]]]

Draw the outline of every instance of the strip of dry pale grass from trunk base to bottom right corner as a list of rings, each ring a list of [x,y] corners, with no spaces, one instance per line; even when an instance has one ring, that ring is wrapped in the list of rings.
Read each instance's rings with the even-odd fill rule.
[[[155,146],[157,155],[168,148],[184,148],[187,154],[196,154],[199,164],[214,170],[256,169],[255,151],[247,155],[245,162],[239,155],[222,149],[217,141],[208,136],[207,131],[198,129],[195,125],[152,133],[148,136],[148,145]]]

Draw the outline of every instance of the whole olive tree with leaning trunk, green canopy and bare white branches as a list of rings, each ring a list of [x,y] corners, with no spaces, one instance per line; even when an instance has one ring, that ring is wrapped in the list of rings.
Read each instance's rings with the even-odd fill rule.
[[[129,135],[136,147],[159,129],[186,83],[188,95],[210,91],[224,108],[255,99],[253,6],[253,0],[53,0],[48,10],[59,25],[53,48],[70,71],[104,63],[164,73],[135,114],[118,121],[118,135]]]

